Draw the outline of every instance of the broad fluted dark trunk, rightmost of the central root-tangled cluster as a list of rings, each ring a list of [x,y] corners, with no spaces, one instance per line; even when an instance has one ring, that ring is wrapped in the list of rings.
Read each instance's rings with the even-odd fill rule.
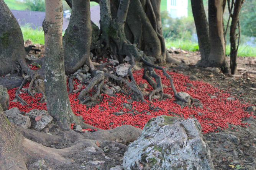
[[[120,0],[110,1],[112,18],[117,17],[119,3]],[[161,37],[161,25],[159,25],[160,11],[158,11],[158,6],[155,6],[159,2],[154,3],[154,6],[151,4],[151,9],[149,9],[150,4],[140,0],[130,2],[126,18],[127,23],[125,24],[125,36],[146,55],[156,58],[159,63],[164,63],[166,49]],[[147,8],[150,11],[148,13],[146,13]]]

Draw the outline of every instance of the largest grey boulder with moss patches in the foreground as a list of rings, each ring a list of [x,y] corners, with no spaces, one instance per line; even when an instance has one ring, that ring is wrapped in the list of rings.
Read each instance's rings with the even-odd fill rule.
[[[196,119],[151,118],[128,146],[125,170],[213,170],[208,145]]]

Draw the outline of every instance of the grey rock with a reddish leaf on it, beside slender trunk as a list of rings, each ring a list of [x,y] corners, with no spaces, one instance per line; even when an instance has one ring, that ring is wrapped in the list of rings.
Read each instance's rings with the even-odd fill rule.
[[[49,116],[46,110],[33,109],[26,113],[26,116],[30,117],[32,128],[38,131],[42,130],[53,120],[53,117]]]

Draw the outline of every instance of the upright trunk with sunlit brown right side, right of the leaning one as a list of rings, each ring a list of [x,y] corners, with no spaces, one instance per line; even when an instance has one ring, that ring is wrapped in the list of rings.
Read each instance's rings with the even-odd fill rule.
[[[211,47],[208,66],[219,67],[222,68],[223,71],[228,72],[228,65],[225,62],[222,0],[209,0],[208,6]]]

